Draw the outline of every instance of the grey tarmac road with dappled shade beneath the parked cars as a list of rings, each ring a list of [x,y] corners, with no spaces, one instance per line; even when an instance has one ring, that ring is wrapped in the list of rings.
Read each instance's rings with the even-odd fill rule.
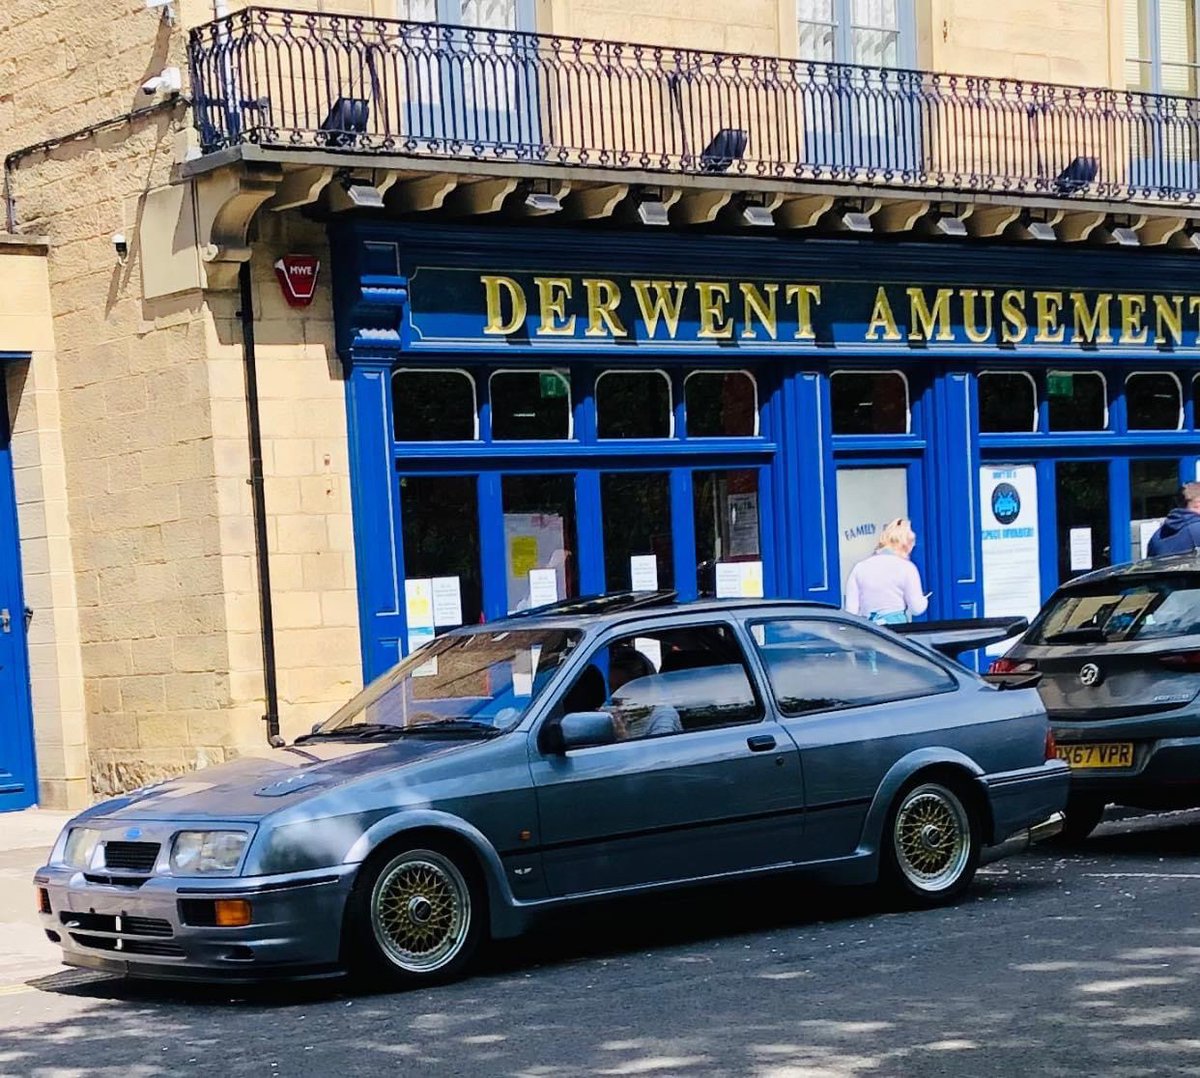
[[[371,995],[0,987],[0,1074],[1200,1074],[1200,812],[1108,822],[895,914],[796,881],[574,914]]]

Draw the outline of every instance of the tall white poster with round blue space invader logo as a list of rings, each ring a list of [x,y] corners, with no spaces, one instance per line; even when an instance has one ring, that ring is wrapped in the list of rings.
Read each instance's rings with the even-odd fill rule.
[[[1033,618],[1042,605],[1038,569],[1038,473],[1032,465],[979,469],[985,617]],[[1002,654],[1010,640],[988,651]]]

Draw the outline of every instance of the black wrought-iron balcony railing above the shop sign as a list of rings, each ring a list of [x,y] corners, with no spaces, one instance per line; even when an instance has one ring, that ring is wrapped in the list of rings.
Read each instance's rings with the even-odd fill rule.
[[[205,151],[1200,194],[1183,97],[269,8],[193,30],[190,62]]]

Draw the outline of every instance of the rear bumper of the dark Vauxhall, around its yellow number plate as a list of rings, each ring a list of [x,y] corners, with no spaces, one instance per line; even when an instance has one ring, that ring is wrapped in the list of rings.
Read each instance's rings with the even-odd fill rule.
[[[1133,726],[1100,724],[1055,727],[1062,745],[1132,742],[1133,767],[1082,767],[1070,772],[1073,797],[1103,798],[1139,808],[1186,808],[1200,804],[1200,737],[1139,736]]]

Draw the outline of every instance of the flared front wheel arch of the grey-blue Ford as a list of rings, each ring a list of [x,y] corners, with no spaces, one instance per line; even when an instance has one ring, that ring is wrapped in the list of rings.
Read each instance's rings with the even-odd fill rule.
[[[359,863],[359,872],[380,850],[403,849],[420,840],[433,842],[469,860],[487,894],[487,920],[496,939],[517,935],[524,928],[505,879],[504,864],[487,837],[466,820],[434,809],[404,809],[370,827],[346,855],[346,863]]]

